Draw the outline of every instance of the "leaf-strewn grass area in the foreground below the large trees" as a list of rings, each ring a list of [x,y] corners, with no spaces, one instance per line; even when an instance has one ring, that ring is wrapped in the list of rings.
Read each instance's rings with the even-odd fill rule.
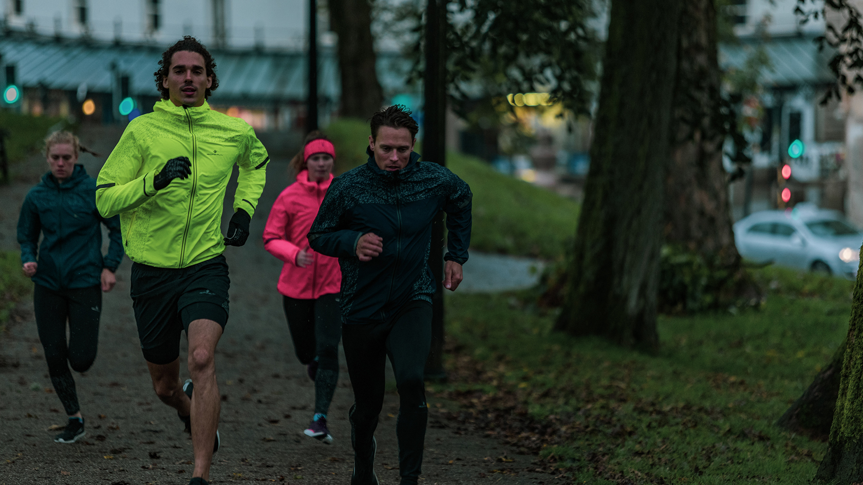
[[[566,438],[540,456],[574,482],[809,483],[826,444],[774,424],[845,337],[854,283],[756,275],[772,287],[759,310],[660,317],[655,355],[551,331],[531,293],[448,295],[450,372],[469,356],[484,374],[437,390],[514,396],[560,423]]]

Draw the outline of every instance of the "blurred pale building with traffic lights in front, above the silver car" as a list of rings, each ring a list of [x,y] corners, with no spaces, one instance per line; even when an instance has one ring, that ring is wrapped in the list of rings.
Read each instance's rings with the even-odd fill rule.
[[[847,209],[847,103],[822,104],[835,84],[832,53],[816,43],[825,21],[819,16],[801,23],[796,7],[797,0],[734,0],[727,7],[738,41],[721,45],[721,67],[727,79],[754,74],[757,80],[756,89],[743,93],[740,110],[753,164],[731,185],[735,219],[803,201]],[[787,180],[785,165],[791,167]]]

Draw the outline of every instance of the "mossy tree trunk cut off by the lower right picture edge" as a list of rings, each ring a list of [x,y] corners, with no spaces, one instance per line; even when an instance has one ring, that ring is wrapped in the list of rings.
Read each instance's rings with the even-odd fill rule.
[[[816,479],[863,482],[863,271],[858,272],[854,285],[851,321],[841,362],[841,382],[827,454],[818,467]]]

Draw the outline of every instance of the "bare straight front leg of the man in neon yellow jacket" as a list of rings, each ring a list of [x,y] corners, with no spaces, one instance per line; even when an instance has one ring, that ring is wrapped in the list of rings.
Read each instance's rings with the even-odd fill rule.
[[[222,337],[222,327],[204,318],[192,320],[188,336],[189,375],[195,385],[192,393],[192,450],[195,455],[192,477],[200,476],[209,480],[213,444],[222,404],[218,394],[215,359],[216,344],[219,337]]]

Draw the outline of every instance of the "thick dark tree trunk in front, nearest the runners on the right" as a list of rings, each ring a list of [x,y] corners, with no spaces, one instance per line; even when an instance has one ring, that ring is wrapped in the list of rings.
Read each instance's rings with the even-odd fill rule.
[[[590,171],[556,328],[655,348],[682,0],[614,0]]]

